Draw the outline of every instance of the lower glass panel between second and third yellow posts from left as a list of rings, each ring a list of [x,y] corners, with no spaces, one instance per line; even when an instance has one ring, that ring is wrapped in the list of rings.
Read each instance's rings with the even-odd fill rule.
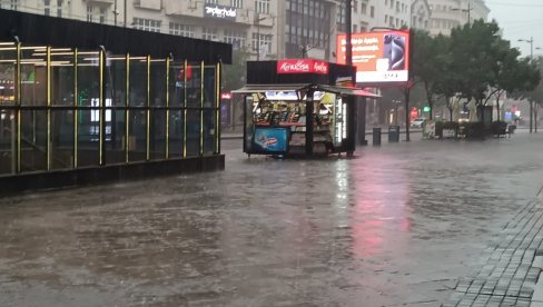
[[[73,111],[51,111],[51,168],[73,167]]]

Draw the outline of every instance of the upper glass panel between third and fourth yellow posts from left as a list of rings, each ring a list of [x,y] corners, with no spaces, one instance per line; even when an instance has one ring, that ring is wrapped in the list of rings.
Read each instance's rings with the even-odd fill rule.
[[[90,107],[100,98],[99,53],[80,52],[77,69],[78,106]]]

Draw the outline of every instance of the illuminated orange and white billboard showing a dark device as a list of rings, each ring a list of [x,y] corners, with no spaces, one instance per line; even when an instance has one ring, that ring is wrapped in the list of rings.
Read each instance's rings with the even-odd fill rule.
[[[353,65],[357,83],[407,82],[409,31],[353,33]],[[337,62],[345,63],[346,34],[337,36]]]

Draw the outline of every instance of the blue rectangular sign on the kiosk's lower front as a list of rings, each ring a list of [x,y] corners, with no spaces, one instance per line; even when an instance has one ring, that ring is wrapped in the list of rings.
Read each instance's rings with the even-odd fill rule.
[[[260,152],[287,152],[288,135],[289,128],[256,127],[253,148]]]

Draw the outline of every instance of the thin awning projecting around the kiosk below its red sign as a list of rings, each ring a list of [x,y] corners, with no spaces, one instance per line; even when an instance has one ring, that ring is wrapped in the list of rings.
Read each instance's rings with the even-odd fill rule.
[[[247,85],[240,89],[233,90],[233,93],[254,93],[254,92],[265,92],[265,91],[297,91],[297,90],[306,90],[308,87],[313,85]],[[351,96],[361,96],[361,97],[381,97],[379,95],[373,93],[367,90],[363,90],[361,88],[347,88],[347,87],[337,87],[337,86],[326,86],[326,85],[316,85],[313,86],[314,90],[319,91],[329,91],[336,92],[340,95],[351,95]]]

